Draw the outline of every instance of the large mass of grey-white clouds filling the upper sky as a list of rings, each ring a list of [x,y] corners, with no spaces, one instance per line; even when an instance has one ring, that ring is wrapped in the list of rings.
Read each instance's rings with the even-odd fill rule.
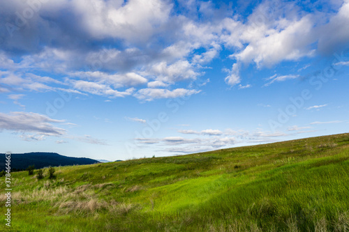
[[[27,2],[0,4],[1,93],[14,86],[54,91],[56,85],[68,85],[71,91],[124,97],[140,86],[136,98],[155,99],[144,97],[144,92],[169,98],[177,95],[171,85],[198,79],[204,74],[202,65],[222,57],[222,49],[234,62],[225,82],[248,88],[251,85],[240,84],[248,65],[271,68],[349,45],[348,1],[312,13],[295,2],[262,1],[242,20],[239,12],[232,15],[211,2],[179,1],[174,6],[161,0],[60,0],[40,3],[22,24],[15,13],[30,9]],[[177,7],[186,10],[177,13]],[[54,75],[40,77],[34,71]],[[269,84],[295,76],[276,76]],[[158,93],[159,88],[167,91]]]

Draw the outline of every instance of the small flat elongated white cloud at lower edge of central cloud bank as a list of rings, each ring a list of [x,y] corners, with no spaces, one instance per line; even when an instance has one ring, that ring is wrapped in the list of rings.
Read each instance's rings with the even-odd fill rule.
[[[200,93],[200,91],[195,89],[176,88],[170,91],[163,88],[142,88],[134,96],[140,100],[151,101],[156,98],[179,98],[197,93]]]

